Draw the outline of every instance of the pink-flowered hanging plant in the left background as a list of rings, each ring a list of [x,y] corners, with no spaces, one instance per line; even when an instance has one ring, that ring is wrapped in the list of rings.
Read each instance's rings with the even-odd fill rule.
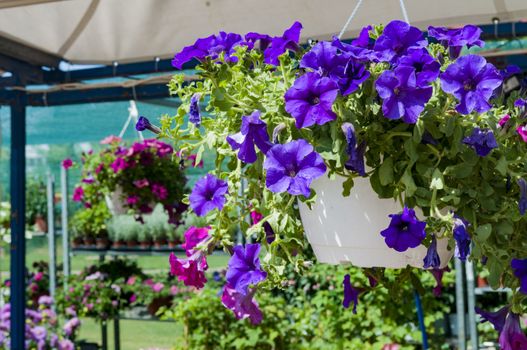
[[[167,212],[169,222],[177,223],[185,207],[181,203],[186,178],[170,145],[157,140],[135,142],[130,147],[110,136],[99,153],[83,156],[82,182],[73,200],[86,207],[110,197],[115,214],[131,211],[138,220],[150,214],[156,204]]]

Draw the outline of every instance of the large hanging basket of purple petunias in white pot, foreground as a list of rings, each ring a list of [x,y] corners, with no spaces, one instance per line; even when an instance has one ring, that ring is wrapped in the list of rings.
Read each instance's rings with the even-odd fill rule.
[[[236,300],[280,285],[285,265],[309,266],[306,233],[322,262],[436,273],[456,252],[485,256],[493,287],[524,285],[527,102],[517,92],[505,99],[507,72],[459,56],[483,44],[481,30],[431,27],[425,38],[393,21],[351,43],[302,48],[301,28],[278,37],[221,32],[175,55],[176,68],[198,59],[200,80],[173,78],[183,103],[162,118],[161,136],[198,161],[205,149],[216,159],[188,197],[211,233],[192,241],[187,259],[171,257],[172,273],[202,287],[203,259],[222,244],[233,253],[224,304],[249,317]],[[235,246],[233,224],[257,243]],[[237,278],[247,260],[249,285]],[[388,282],[382,269],[365,271]],[[413,280],[409,269],[400,274]],[[356,302],[353,281],[343,283],[345,305]],[[523,299],[515,293],[516,316]]]

